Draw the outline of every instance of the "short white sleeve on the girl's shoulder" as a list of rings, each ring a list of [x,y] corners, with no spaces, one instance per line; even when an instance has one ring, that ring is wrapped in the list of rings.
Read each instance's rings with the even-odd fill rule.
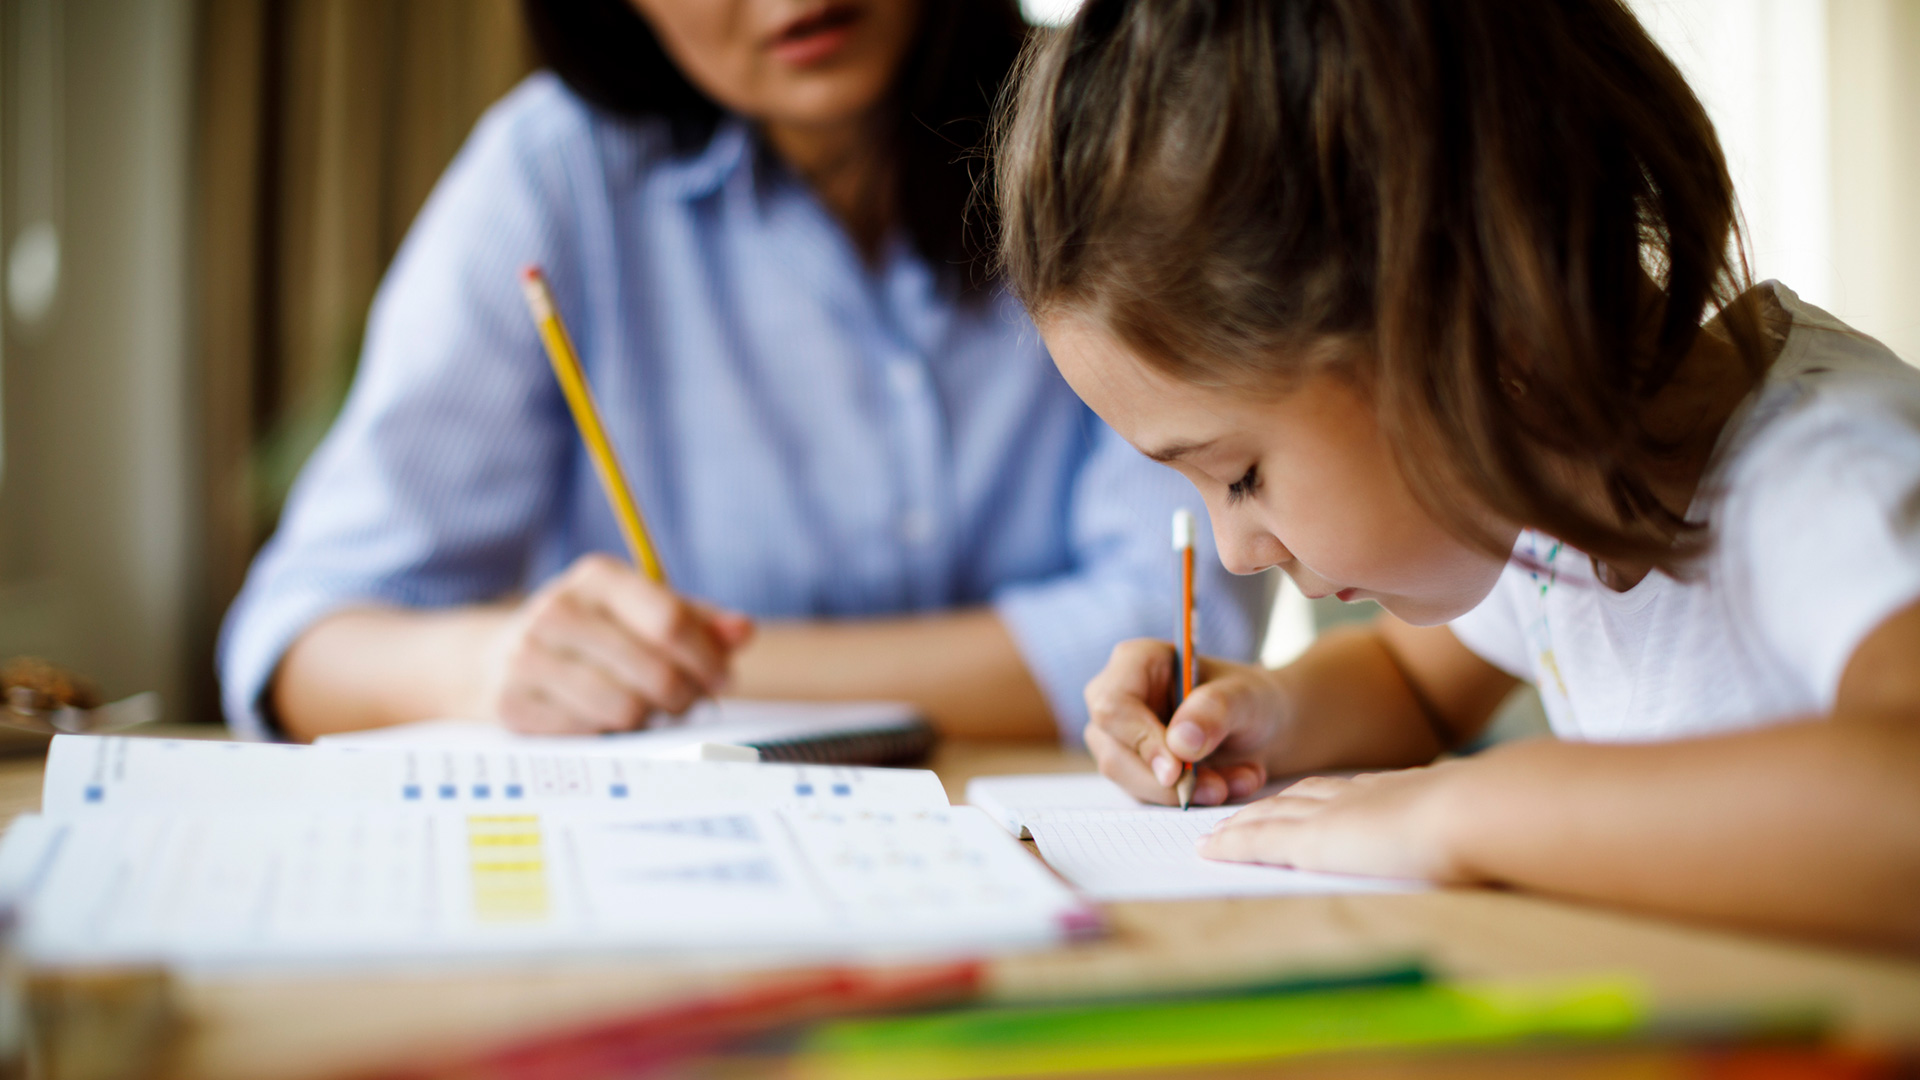
[[[1780,421],[1715,523],[1736,625],[1832,707],[1880,623],[1920,600],[1920,417],[1868,392]]]

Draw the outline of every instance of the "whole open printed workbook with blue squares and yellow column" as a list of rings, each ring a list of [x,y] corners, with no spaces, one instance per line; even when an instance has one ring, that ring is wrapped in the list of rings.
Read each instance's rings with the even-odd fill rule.
[[[1092,913],[922,771],[58,736],[0,842],[38,963],[943,955]]]

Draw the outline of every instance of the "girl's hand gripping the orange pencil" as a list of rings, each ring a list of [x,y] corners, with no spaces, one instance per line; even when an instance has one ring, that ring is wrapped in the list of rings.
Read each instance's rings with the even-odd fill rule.
[[[1279,686],[1265,669],[1202,657],[1200,686],[1162,724],[1173,669],[1173,646],[1142,638],[1116,646],[1087,684],[1087,749],[1100,773],[1137,799],[1173,805],[1181,767],[1206,759],[1196,805],[1252,796],[1267,782],[1267,749],[1284,705]]]

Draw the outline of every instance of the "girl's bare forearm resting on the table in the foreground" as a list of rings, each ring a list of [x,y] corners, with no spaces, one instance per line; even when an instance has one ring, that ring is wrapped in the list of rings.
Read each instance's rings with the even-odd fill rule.
[[[1912,947],[1914,721],[1517,744],[1450,769],[1440,834],[1469,880]]]

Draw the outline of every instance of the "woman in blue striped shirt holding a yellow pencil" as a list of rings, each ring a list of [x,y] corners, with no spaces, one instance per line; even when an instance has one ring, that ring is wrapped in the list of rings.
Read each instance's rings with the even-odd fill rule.
[[[420,211],[228,613],[232,726],[597,732],[726,690],[1077,738],[1114,642],[1173,621],[1165,521],[1190,496],[1073,398],[966,225],[1014,6],[528,17],[551,73]],[[528,263],[678,592],[605,555],[620,538],[518,296]],[[1252,582],[1208,584],[1208,650],[1246,655]]]

